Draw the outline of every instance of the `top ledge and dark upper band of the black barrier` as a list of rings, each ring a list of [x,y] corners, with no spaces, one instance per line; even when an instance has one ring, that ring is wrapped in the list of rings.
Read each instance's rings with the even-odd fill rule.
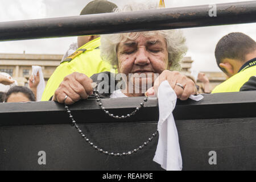
[[[106,109],[114,113],[129,113],[141,103],[143,97],[102,99]],[[141,114],[117,120],[106,117],[98,107],[96,100],[79,101],[69,106],[77,118],[86,118],[80,123],[98,122],[134,122],[158,120],[158,101],[148,100]],[[227,109],[228,108],[228,109]],[[174,110],[175,120],[185,119],[221,119],[221,118],[254,118],[256,117],[256,92],[233,92],[205,94],[204,99],[196,102],[193,100],[177,100]],[[48,113],[47,115],[45,115]],[[57,114],[56,114],[57,113]],[[28,103],[0,103],[0,126],[10,125],[42,125],[70,123],[63,104],[57,102],[28,102]],[[19,118],[26,118],[20,120]]]

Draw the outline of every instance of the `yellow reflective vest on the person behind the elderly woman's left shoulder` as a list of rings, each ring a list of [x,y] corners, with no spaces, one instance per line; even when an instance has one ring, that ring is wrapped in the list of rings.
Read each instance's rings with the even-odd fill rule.
[[[73,73],[84,73],[90,77],[95,73],[113,71],[112,66],[100,57],[100,38],[94,39],[68,56],[49,78],[42,96],[42,101],[48,101],[59,87],[64,77]]]

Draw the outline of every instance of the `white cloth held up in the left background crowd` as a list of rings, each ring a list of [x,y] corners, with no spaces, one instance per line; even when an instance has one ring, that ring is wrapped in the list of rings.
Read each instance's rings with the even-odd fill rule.
[[[39,72],[39,84],[36,87],[36,101],[41,101],[43,92],[44,92],[44,88],[46,88],[45,86],[45,82],[44,82],[44,75],[42,72],[42,68],[39,66],[32,66],[32,75],[35,77],[36,74]],[[34,80],[33,80],[34,82]]]

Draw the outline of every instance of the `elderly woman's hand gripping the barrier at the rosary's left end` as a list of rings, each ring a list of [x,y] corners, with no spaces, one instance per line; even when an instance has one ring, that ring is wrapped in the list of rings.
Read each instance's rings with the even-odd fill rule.
[[[53,101],[65,104],[74,104],[75,102],[86,99],[93,94],[92,79],[82,73],[71,73],[61,82],[59,88],[54,93]],[[68,96],[66,99],[65,97]]]

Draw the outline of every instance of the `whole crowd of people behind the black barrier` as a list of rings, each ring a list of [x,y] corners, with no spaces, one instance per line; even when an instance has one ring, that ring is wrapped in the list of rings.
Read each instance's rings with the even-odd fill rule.
[[[130,3],[121,9],[112,2],[96,0],[89,2],[80,15],[157,8],[157,5]],[[198,93],[256,90],[256,43],[249,36],[232,32],[219,40],[216,62],[228,79],[213,90],[204,73],[199,73],[196,79],[179,72],[180,60],[186,52],[185,37],[180,30],[79,36],[49,78],[42,101],[73,104],[93,97],[92,82],[99,89],[105,79],[108,81],[98,93],[103,98],[157,96],[163,81],[168,81],[180,100]],[[0,74],[1,84],[13,82]],[[139,84],[137,91],[136,83]],[[144,89],[143,83],[147,83]],[[6,93],[0,92],[0,102],[36,101],[38,84],[39,75],[31,76],[30,88],[12,86]]]

